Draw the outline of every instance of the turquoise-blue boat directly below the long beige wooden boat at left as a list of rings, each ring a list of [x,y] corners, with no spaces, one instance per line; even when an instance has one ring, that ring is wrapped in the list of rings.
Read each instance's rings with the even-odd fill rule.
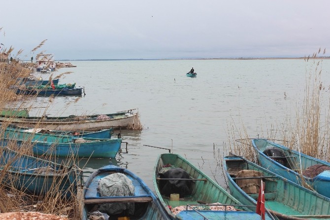
[[[2,128],[3,129],[3,128]],[[52,155],[57,157],[116,157],[122,139],[98,139],[73,137],[66,135],[52,135],[31,133],[7,127],[4,130],[2,144],[17,142],[18,145],[28,143],[33,146],[35,155]]]

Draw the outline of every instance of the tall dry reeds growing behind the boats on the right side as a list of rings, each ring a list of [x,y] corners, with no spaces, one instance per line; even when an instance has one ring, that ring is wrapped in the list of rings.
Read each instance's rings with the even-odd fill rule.
[[[305,88],[303,100],[297,102],[296,117],[285,119],[279,124],[259,131],[261,137],[276,141],[291,149],[307,155],[330,161],[330,85],[323,81],[322,57],[326,49],[321,48],[305,61]],[[319,57],[322,56],[322,57]],[[262,126],[262,125],[261,125]],[[252,161],[256,161],[256,153],[251,144],[251,137],[242,122],[229,127],[228,149]]]

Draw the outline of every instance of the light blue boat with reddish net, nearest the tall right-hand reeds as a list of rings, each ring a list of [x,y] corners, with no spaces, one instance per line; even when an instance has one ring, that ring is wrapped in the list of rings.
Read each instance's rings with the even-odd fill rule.
[[[330,170],[324,170],[318,175],[304,176],[313,165],[321,165],[330,169],[330,163],[316,159],[282,145],[275,144],[265,139],[254,139],[252,145],[258,152],[260,164],[275,174],[292,182],[314,188],[318,193],[330,197]],[[280,150],[280,156],[269,155],[269,150]],[[265,153],[267,153],[267,155]],[[301,162],[300,162],[301,161]],[[300,174],[302,170],[302,174]],[[298,172],[297,172],[298,171]]]

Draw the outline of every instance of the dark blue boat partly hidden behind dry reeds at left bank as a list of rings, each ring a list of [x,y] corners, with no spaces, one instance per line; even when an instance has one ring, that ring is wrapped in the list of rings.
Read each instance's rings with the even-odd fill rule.
[[[69,198],[83,183],[82,171],[75,165],[63,166],[7,147],[0,147],[0,173],[2,183],[34,195],[52,192]]]

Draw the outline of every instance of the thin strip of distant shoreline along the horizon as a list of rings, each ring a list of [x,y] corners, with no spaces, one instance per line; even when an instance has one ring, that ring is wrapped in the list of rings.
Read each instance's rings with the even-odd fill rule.
[[[56,61],[120,61],[120,60],[329,60],[330,57],[270,57],[270,58],[182,58],[182,59],[86,59],[86,60],[56,60]]]

